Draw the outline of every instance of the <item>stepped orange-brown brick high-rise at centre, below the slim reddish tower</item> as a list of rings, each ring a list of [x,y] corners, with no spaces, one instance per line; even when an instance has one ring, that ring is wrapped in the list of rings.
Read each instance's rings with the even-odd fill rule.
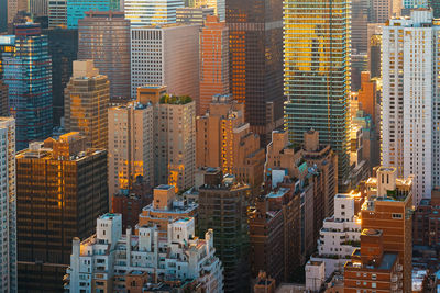
[[[263,183],[264,149],[258,135],[244,122],[244,105],[232,95],[215,95],[209,110],[197,117],[197,167],[220,167],[255,190]]]

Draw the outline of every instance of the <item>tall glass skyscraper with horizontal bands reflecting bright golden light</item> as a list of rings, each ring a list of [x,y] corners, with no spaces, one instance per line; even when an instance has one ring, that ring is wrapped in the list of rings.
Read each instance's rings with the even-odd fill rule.
[[[338,154],[342,188],[350,171],[351,3],[288,0],[284,9],[285,123],[289,139],[301,143],[306,132],[318,131],[321,144],[331,145]]]

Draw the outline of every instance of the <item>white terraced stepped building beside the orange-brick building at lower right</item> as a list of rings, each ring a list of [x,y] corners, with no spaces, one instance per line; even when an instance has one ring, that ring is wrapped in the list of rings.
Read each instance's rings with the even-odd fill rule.
[[[360,247],[361,221],[358,217],[359,193],[344,193],[334,196],[334,214],[323,221],[318,240],[318,252],[310,260],[326,264],[326,279],[343,266]],[[359,204],[360,209],[361,205]],[[307,275],[306,275],[307,278]]]

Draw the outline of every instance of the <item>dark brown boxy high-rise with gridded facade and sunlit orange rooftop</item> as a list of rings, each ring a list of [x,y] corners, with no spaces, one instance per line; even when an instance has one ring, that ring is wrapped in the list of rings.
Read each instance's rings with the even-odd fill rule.
[[[16,155],[19,291],[61,292],[72,239],[108,212],[107,151],[85,140],[69,133]]]

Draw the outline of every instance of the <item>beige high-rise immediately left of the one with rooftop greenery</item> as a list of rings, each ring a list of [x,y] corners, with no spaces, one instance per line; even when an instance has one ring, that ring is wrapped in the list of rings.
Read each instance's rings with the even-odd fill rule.
[[[139,102],[109,109],[109,193],[131,190],[138,177],[154,185],[153,105]]]

